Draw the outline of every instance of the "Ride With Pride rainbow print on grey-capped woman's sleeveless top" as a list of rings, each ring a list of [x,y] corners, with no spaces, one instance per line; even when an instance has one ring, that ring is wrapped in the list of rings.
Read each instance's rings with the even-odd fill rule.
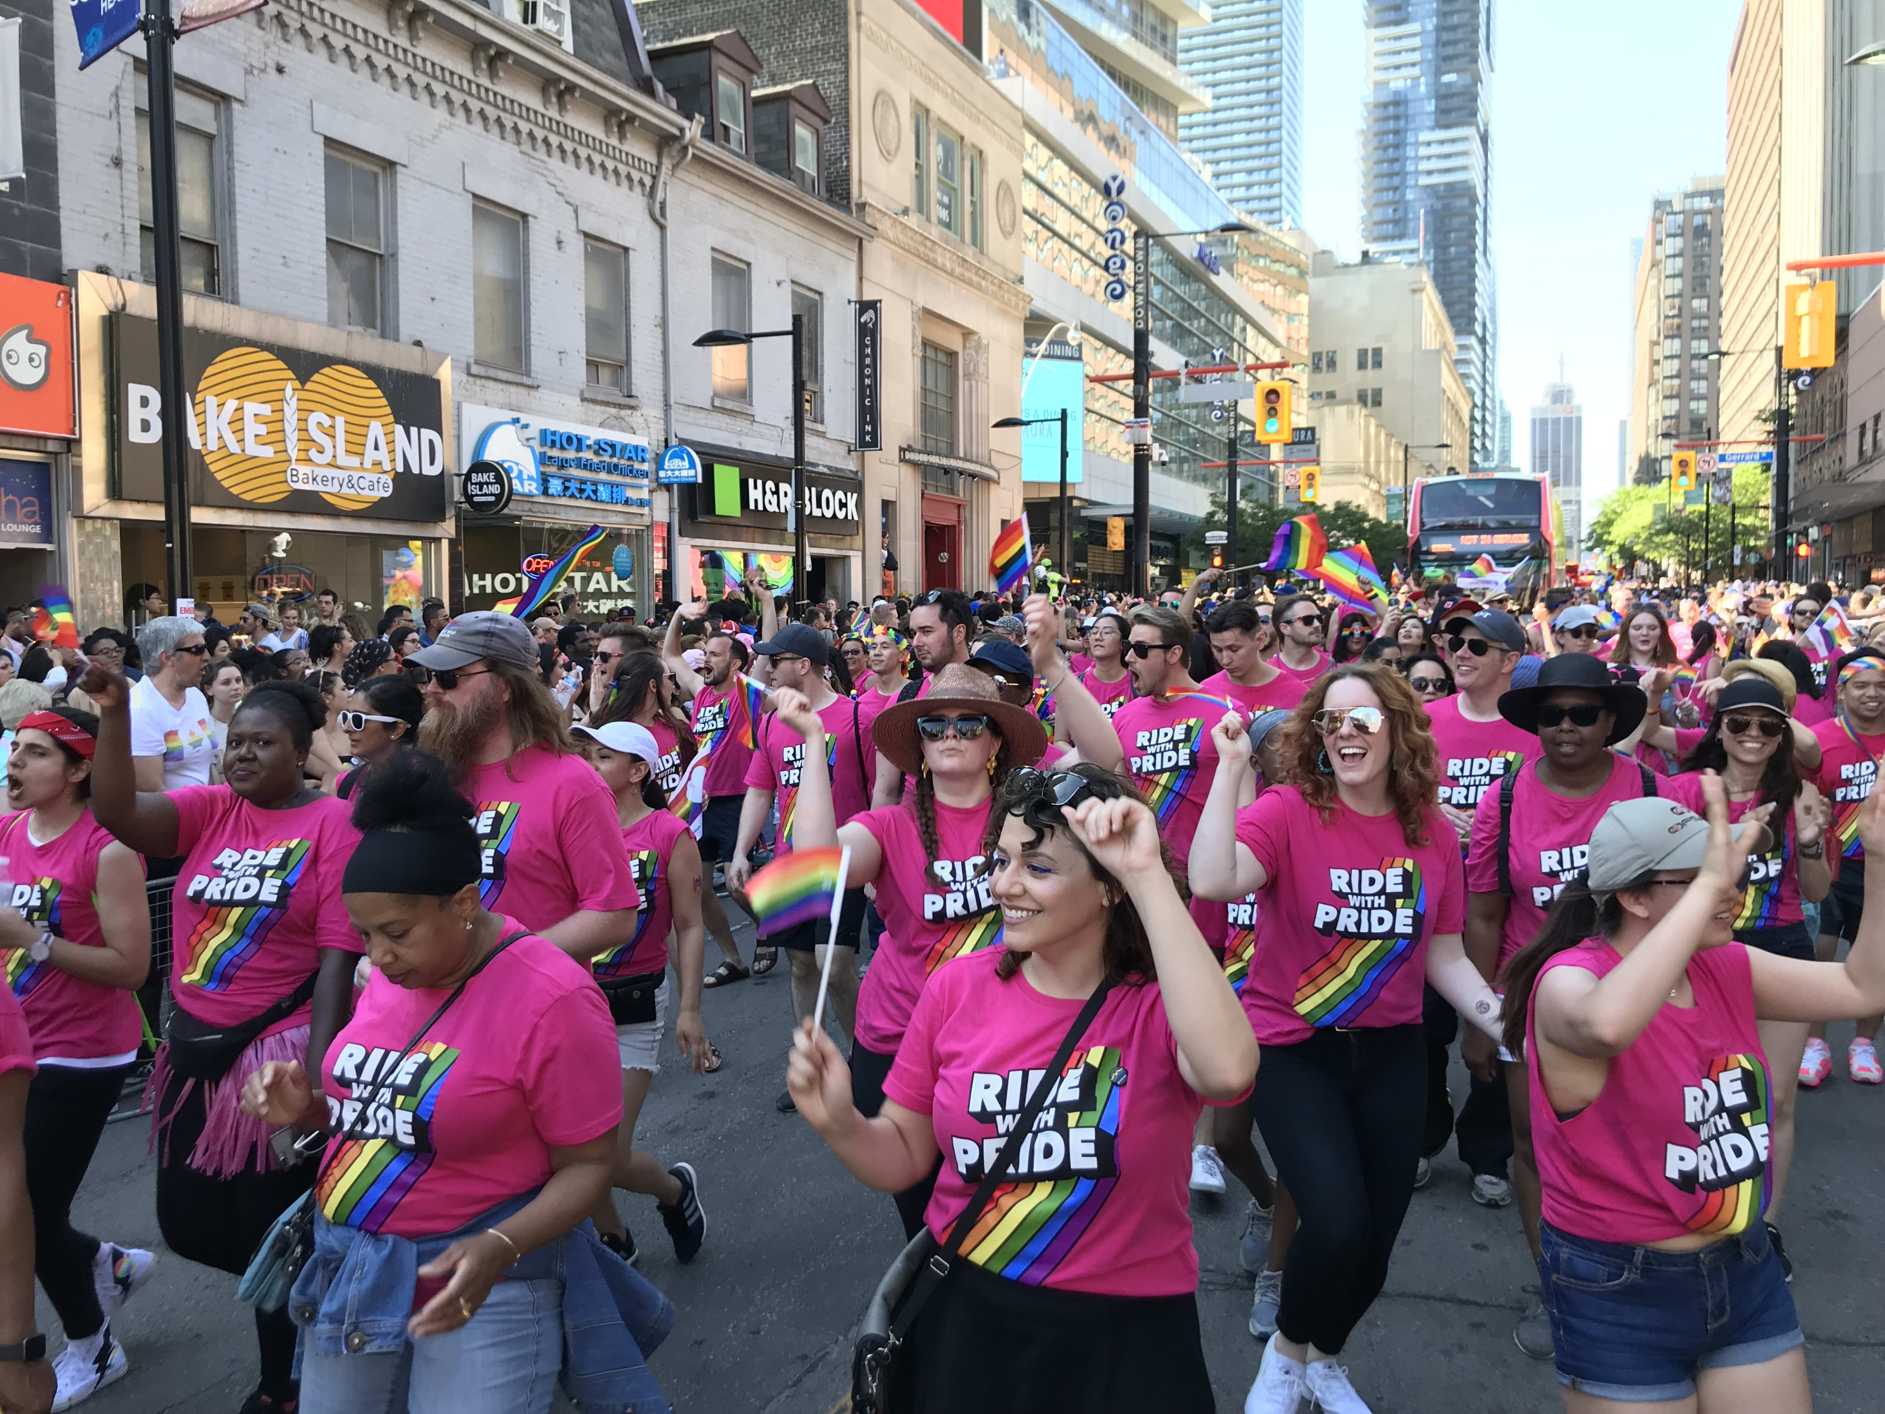
[[[1681,1118],[1693,1148],[1666,1144],[1663,1176],[1700,1193],[1691,1233],[1734,1237],[1761,1222],[1768,1201],[1768,1077],[1759,1052],[1710,1061],[1700,1084],[1681,1088]]]

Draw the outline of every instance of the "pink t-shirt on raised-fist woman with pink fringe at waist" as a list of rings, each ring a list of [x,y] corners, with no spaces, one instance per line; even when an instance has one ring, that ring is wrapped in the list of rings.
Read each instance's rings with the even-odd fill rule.
[[[264,811],[228,786],[170,792],[177,852],[170,896],[170,992],[209,1026],[245,1022],[320,967],[320,948],[364,952],[341,905],[341,871],[360,831],[336,796]],[[307,1026],[309,1007],[264,1035]]]

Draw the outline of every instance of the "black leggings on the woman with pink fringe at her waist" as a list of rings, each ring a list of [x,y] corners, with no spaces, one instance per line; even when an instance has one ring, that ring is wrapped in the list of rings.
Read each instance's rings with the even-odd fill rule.
[[[156,1112],[170,1114],[175,1092],[185,1084],[172,1075],[156,1097]],[[275,1218],[315,1186],[319,1163],[268,1173],[239,1173],[211,1178],[188,1167],[190,1150],[204,1131],[204,1086],[196,1086],[177,1110],[158,1144],[156,1225],[170,1250],[185,1261],[241,1276]],[[168,1156],[168,1161],[166,1161]],[[288,1308],[256,1310],[254,1339],[262,1356],[262,1393],[275,1401],[294,1399],[294,1322]]]

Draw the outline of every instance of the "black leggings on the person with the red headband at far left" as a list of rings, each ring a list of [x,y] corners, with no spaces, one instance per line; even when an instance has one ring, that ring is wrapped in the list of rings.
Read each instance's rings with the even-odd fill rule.
[[[26,1197],[32,1199],[34,1274],[68,1340],[98,1335],[106,1312],[92,1286],[98,1239],[72,1225],[98,1135],[124,1090],[130,1065],[87,1071],[41,1065],[26,1090]]]

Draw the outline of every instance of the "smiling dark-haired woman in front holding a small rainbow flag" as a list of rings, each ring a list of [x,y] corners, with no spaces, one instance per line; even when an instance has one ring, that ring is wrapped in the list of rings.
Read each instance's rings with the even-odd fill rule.
[[[997,811],[1005,946],[929,977],[878,1114],[858,1109],[844,1060],[809,1020],[786,1071],[799,1114],[867,1186],[903,1192],[941,1161],[926,1222],[948,1274],[907,1329],[892,1399],[1208,1410],[1191,1126],[1201,1105],[1248,1093],[1255,1037],[1129,786],[1093,765],[1016,771]],[[1033,1095],[1061,1046],[1065,1071]],[[1031,1095],[1044,1107],[1029,1126]],[[992,1167],[1010,1133],[1012,1165]],[[1014,1182],[965,1214],[990,1171]]]

